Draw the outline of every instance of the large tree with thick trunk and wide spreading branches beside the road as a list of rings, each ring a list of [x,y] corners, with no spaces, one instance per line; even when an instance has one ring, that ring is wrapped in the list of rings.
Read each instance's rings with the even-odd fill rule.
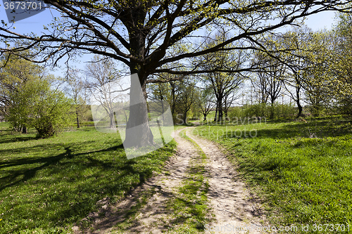
[[[146,83],[150,74],[197,74],[207,72],[238,72],[234,68],[202,70],[189,66],[188,58],[230,49],[263,49],[258,36],[292,25],[296,20],[322,11],[346,11],[348,1],[66,1],[44,0],[62,14],[41,35],[20,34],[10,27],[0,27],[0,37],[6,44],[25,41],[16,48],[1,48],[1,52],[18,53],[35,46],[38,60],[65,58],[74,51],[108,56],[130,67],[138,74],[139,84],[131,87],[131,103],[146,98]],[[54,30],[51,30],[54,27]],[[233,37],[219,41],[210,48],[199,49],[189,42],[197,30],[224,27],[236,32]],[[49,29],[50,28],[50,29]],[[233,44],[237,42],[245,42]],[[190,50],[170,53],[175,46],[189,45]],[[225,48],[233,44],[233,48]],[[244,46],[245,45],[245,46]],[[27,57],[34,60],[34,57]],[[172,63],[184,70],[176,70]],[[169,65],[165,67],[165,65]],[[134,83],[132,83],[134,84]],[[142,86],[143,95],[139,95]],[[141,125],[142,133],[135,136],[132,126]],[[153,144],[148,125],[146,105],[130,110],[125,138],[126,145]]]

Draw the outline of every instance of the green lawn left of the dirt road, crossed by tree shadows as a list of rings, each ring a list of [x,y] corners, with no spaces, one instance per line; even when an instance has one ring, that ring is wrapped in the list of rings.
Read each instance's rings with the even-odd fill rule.
[[[117,202],[161,171],[175,148],[127,160],[118,134],[94,127],[49,139],[11,135],[6,123],[0,131],[0,233],[72,233],[99,200]]]

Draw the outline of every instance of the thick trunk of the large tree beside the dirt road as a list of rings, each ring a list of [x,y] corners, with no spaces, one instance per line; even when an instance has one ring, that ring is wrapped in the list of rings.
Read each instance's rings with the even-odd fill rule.
[[[130,53],[141,60],[145,56],[146,33],[139,27],[144,24],[145,14],[145,8],[142,6],[134,8],[133,11],[131,10],[122,16],[122,22],[125,22],[130,37]],[[130,60],[130,115],[123,142],[125,148],[154,145],[146,106],[146,79],[148,77],[146,67],[148,66],[138,63],[136,60]]]

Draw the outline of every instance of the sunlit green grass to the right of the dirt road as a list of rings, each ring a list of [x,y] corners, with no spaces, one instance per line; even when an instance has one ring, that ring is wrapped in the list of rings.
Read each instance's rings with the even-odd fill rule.
[[[310,119],[196,130],[229,152],[241,176],[260,191],[272,223],[352,226],[351,121]]]

